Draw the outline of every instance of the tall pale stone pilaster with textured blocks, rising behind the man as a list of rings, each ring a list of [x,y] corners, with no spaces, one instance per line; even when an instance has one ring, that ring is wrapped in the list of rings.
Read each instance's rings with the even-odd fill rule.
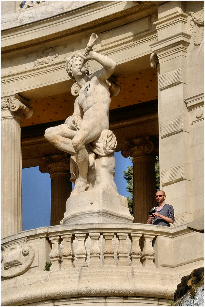
[[[158,6],[155,22],[158,39],[150,45],[159,61],[160,188],[174,207],[175,215],[186,215],[185,222],[190,218],[189,127],[184,103],[188,84],[187,50],[191,39],[186,28],[187,18],[183,1]]]

